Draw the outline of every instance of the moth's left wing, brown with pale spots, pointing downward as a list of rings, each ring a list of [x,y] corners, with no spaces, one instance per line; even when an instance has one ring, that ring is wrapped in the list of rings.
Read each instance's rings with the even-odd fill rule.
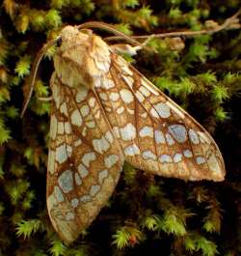
[[[51,80],[53,103],[47,209],[64,242],[72,242],[105,205],[120,177],[123,156],[92,90]]]

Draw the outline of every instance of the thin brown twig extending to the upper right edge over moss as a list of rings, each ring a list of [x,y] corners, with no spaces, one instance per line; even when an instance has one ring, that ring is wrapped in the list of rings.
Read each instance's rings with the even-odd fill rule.
[[[174,38],[174,37],[194,37],[199,35],[211,35],[223,30],[229,30],[229,29],[239,29],[241,28],[241,24],[239,23],[238,15],[241,14],[241,9],[234,15],[228,17],[223,24],[218,25],[217,22],[213,21],[214,26],[206,29],[202,29],[200,31],[176,31],[176,32],[169,32],[169,33],[161,33],[161,34],[152,34],[151,37],[153,38]],[[136,40],[136,41],[143,41],[147,40],[147,36],[131,36],[129,38]],[[108,37],[105,38],[105,41],[120,41],[123,40],[122,37],[114,36],[114,37]]]

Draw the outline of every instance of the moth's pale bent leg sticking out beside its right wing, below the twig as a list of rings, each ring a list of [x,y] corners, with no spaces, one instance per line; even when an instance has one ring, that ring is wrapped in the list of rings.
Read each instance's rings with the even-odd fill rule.
[[[147,43],[154,38],[155,35],[150,35],[147,40],[144,43],[140,43],[139,45],[136,46],[131,46],[130,44],[127,43],[115,43],[111,45],[111,48],[116,52],[120,54],[127,54],[129,56],[134,56],[137,54],[138,50],[141,50],[147,46]]]

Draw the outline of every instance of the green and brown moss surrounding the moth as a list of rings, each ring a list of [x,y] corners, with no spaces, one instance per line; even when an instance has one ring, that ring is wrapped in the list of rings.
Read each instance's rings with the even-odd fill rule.
[[[240,30],[183,39],[181,46],[152,40],[134,62],[212,133],[226,181],[185,183],[125,165],[108,205],[70,246],[55,234],[45,204],[49,103],[37,99],[50,94],[53,48],[19,118],[37,51],[66,24],[100,20],[129,35],[201,30],[205,20],[222,23],[240,6],[238,0],[1,2],[0,255],[240,255]]]

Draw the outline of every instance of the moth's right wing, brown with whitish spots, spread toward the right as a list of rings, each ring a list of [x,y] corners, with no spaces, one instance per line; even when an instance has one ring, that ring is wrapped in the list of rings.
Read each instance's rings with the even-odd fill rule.
[[[128,162],[166,177],[224,180],[218,146],[186,111],[114,53],[108,75],[113,82],[96,90]]]

